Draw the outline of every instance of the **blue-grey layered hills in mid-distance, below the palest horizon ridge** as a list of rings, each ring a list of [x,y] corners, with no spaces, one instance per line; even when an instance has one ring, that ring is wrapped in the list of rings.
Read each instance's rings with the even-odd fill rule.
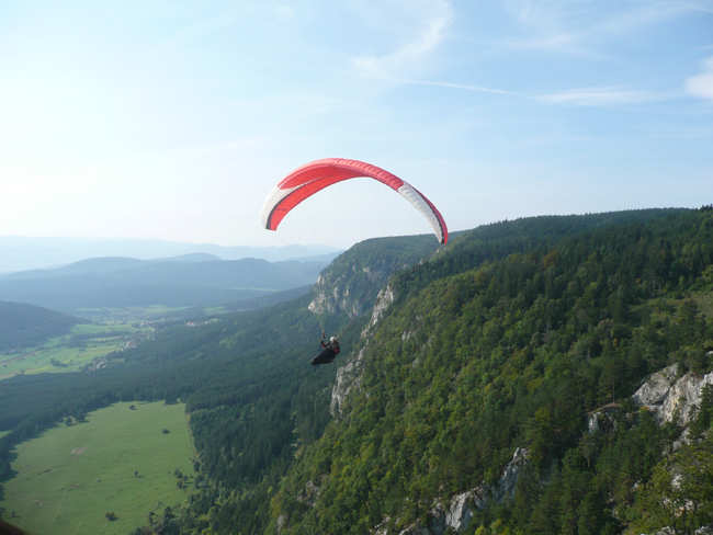
[[[215,306],[313,284],[326,261],[93,258],[0,275],[0,299],[63,311],[81,308]]]

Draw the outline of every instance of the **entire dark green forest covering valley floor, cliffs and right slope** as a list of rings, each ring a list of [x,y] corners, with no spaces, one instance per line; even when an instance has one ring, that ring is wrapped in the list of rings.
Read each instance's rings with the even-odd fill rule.
[[[322,330],[343,354],[315,369]],[[713,389],[686,424],[632,396],[712,361],[711,209],[519,219],[438,250],[370,240],[312,295],[3,382],[0,478],[67,417],[182,400],[199,476],[136,533],[446,533],[460,496],[468,535],[694,533],[713,524]]]

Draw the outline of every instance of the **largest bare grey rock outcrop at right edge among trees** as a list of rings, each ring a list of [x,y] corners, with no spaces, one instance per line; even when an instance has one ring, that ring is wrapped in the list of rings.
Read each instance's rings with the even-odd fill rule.
[[[654,412],[659,423],[678,419],[680,425],[687,426],[695,418],[703,388],[713,385],[713,372],[702,377],[691,372],[679,378],[677,375],[677,364],[652,374],[634,392],[633,399]]]

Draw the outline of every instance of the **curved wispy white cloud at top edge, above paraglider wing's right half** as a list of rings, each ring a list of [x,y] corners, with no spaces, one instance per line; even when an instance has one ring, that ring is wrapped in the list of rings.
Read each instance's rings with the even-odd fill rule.
[[[445,37],[445,32],[453,19],[453,10],[446,1],[434,4],[435,11],[429,10],[420,32],[414,39],[403,44],[395,50],[381,56],[359,56],[353,58],[353,65],[362,75],[371,78],[386,79],[403,76],[418,66],[423,58],[433,52]]]

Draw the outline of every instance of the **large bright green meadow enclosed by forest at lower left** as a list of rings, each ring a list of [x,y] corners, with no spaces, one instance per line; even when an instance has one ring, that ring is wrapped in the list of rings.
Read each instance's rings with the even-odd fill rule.
[[[188,491],[177,487],[174,470],[193,476],[184,406],[131,405],[20,444],[18,476],[4,483],[0,502],[9,520],[31,534],[126,535],[146,525],[150,511],[182,502]],[[105,517],[110,511],[117,520]]]

